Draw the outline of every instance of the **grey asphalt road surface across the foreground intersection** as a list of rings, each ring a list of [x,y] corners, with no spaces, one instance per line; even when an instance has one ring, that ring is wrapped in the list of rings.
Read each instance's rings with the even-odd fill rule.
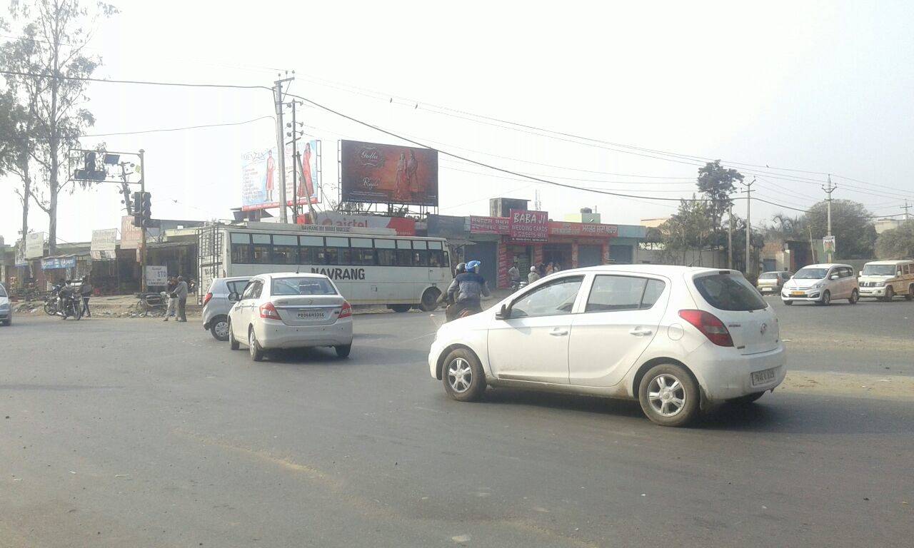
[[[909,321],[889,316],[914,312],[776,306],[792,346],[812,343],[812,325],[907,337]],[[588,397],[490,390],[460,404],[425,364],[437,321],[357,316],[348,360],[254,364],[195,323],[16,317],[0,328],[0,546],[834,547],[914,534],[914,398],[779,391],[685,429]],[[889,363],[816,348],[792,348],[813,376]],[[892,352],[891,373],[911,374]]]

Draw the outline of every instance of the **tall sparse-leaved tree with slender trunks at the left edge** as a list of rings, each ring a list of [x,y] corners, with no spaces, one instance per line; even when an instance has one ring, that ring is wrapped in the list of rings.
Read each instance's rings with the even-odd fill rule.
[[[24,196],[31,196],[48,214],[48,246],[57,248],[58,196],[74,192],[67,174],[67,154],[80,147],[80,136],[95,122],[85,108],[86,90],[101,58],[84,53],[92,30],[101,17],[112,16],[112,5],[98,4],[90,11],[79,0],[31,0],[13,2],[12,21],[22,28],[21,37],[0,47],[0,65],[22,73],[7,79],[9,90],[27,111],[19,128],[30,143],[27,160],[18,163]],[[35,163],[41,187],[34,184]],[[27,212],[24,212],[24,227]]]

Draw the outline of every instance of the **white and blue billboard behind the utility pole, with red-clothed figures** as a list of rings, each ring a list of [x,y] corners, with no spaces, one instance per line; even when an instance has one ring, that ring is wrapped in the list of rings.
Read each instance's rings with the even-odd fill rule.
[[[286,204],[308,205],[309,198],[312,204],[319,204],[321,142],[298,142],[297,146],[301,162],[292,158],[292,144],[285,146]],[[241,155],[242,211],[280,206],[278,156],[275,146]]]

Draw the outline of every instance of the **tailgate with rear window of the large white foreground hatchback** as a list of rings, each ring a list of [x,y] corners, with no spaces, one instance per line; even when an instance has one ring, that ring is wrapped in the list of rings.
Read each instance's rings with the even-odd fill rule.
[[[739,353],[763,353],[778,348],[778,319],[768,303],[737,272],[720,270],[696,275],[692,283],[696,302],[724,322]]]

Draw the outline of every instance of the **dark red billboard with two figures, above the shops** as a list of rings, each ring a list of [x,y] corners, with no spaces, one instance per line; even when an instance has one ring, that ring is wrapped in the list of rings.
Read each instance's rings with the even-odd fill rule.
[[[438,151],[340,141],[344,202],[438,205]]]

